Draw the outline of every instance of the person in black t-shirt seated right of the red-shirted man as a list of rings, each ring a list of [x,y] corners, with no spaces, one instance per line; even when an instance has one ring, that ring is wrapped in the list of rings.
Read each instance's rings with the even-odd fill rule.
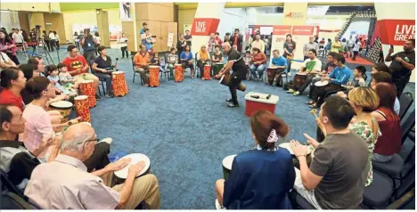
[[[106,46],[99,46],[97,51],[100,53],[100,56],[95,58],[93,62],[94,74],[95,76],[106,80],[106,96],[113,98],[114,95],[111,90],[111,71],[116,67],[111,64],[111,58],[107,55]]]

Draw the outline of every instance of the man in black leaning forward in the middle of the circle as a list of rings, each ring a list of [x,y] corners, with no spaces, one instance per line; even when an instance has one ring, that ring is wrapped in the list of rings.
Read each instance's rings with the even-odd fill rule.
[[[225,55],[228,56],[228,59],[225,68],[220,70],[216,78],[222,77],[222,75],[224,75],[226,71],[230,71],[231,69],[233,69],[233,74],[229,82],[229,90],[230,94],[232,94],[232,99],[227,99],[226,102],[230,102],[230,104],[228,104],[227,107],[239,107],[239,102],[237,102],[236,89],[241,84],[241,80],[243,80],[246,77],[248,73],[248,67],[245,64],[245,61],[243,60],[241,53],[233,49],[229,43],[225,42],[222,45],[222,47],[225,52]]]

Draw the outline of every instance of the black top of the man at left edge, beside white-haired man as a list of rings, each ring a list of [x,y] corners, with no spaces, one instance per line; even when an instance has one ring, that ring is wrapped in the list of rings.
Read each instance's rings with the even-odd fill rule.
[[[22,143],[17,141],[0,141],[0,148],[12,148],[13,151],[2,152],[2,163],[10,165],[9,176],[13,184],[18,185],[23,179],[30,179],[33,169],[40,164],[40,161],[32,155]]]

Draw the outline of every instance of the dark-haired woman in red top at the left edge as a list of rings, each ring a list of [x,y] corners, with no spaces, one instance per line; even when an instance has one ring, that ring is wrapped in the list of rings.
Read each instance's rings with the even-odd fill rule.
[[[12,104],[23,111],[20,91],[26,85],[26,78],[20,69],[9,68],[0,72],[0,104]]]

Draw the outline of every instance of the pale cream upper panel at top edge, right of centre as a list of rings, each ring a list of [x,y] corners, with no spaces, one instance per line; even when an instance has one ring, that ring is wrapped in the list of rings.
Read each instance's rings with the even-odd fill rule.
[[[306,24],[308,3],[284,3],[282,25],[302,26]]]

